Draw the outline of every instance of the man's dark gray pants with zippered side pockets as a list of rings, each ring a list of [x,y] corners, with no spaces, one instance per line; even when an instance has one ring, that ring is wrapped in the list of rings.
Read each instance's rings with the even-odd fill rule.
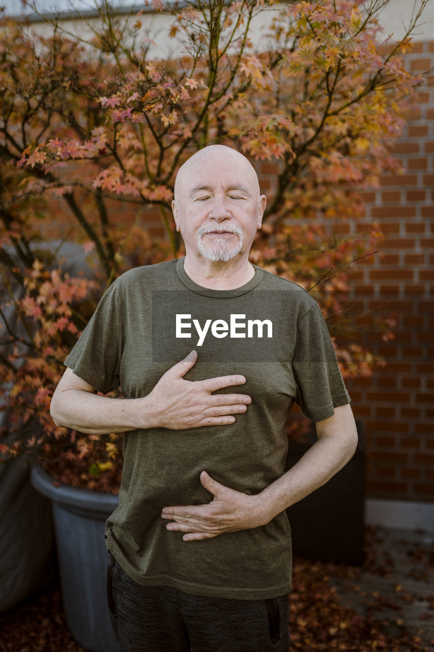
[[[289,600],[228,600],[141,586],[110,558],[108,604],[121,652],[287,652]]]

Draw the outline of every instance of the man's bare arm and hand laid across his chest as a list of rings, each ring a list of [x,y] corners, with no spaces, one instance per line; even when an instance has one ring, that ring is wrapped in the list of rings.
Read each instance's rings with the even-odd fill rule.
[[[183,430],[231,424],[232,415],[245,412],[252,399],[247,394],[213,394],[224,387],[242,385],[244,376],[220,376],[201,381],[182,378],[197,360],[192,351],[160,378],[143,398],[116,400],[98,396],[96,390],[66,369],[51,399],[50,413],[57,426],[88,434],[124,432],[137,428]]]

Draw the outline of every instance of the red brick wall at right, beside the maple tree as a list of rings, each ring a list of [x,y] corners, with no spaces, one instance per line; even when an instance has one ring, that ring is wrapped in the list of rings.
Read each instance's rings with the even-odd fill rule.
[[[434,42],[407,55],[414,72],[434,67]],[[434,499],[434,74],[396,143],[403,175],[384,175],[366,194],[365,222],[388,234],[381,255],[353,275],[353,295],[373,314],[395,314],[395,338],[367,334],[365,344],[386,366],[348,383],[365,426],[368,496]]]

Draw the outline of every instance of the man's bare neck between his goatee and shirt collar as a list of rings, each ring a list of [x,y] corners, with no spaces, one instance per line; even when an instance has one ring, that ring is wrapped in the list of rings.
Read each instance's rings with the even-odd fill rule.
[[[187,253],[184,271],[197,285],[209,289],[240,288],[255,276],[255,268],[249,262],[248,254],[223,263]]]

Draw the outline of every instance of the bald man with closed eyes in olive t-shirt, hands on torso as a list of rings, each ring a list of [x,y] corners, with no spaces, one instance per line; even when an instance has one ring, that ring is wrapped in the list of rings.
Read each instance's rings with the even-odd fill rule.
[[[51,402],[59,425],[126,431],[106,525],[122,652],[287,652],[285,509],[356,447],[317,304],[248,260],[265,203],[239,152],[188,159],[172,204],[185,258],[115,281]],[[119,385],[127,400],[96,395]],[[318,441],[285,473],[294,401]]]

